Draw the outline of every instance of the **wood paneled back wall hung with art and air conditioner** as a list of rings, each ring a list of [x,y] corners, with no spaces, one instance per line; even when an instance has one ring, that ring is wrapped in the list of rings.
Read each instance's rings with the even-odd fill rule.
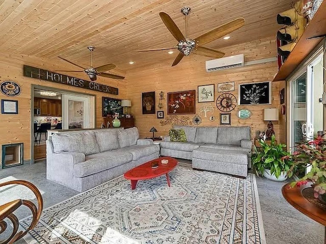
[[[262,59],[276,56],[275,37],[270,37],[262,40],[243,43],[240,45],[224,48],[223,51],[226,56],[243,53],[246,61]],[[241,68],[233,68],[225,71],[217,71],[207,73],[205,70],[205,61],[209,58],[191,54],[184,57],[181,62],[171,67],[171,63],[176,54],[167,55],[165,62],[160,65],[140,67],[138,69],[127,72],[127,99],[131,100],[131,112],[135,117],[135,125],[139,128],[141,137],[151,137],[149,132],[151,127],[157,129],[155,136],[167,135],[171,126],[160,126],[161,119],[156,118],[156,114],[142,114],[141,97],[143,92],[155,91],[156,111],[163,110],[165,117],[167,115],[167,93],[178,92],[182,90],[196,90],[198,85],[214,84],[215,85],[215,101],[222,93],[217,92],[217,84],[224,82],[235,82],[234,92],[230,92],[238,99],[238,84],[260,81],[271,81],[273,76],[277,73],[277,62],[258,64],[246,66]],[[153,60],[154,62],[154,60]],[[267,129],[267,121],[263,120],[264,108],[279,108],[279,90],[280,82],[272,83],[272,103],[270,105],[251,105],[239,106],[231,112],[232,126],[251,126],[252,138],[256,137],[259,130]],[[282,86],[283,87],[283,86]],[[164,107],[157,108],[160,91],[165,93],[165,100],[163,100]],[[211,104],[214,107],[214,112],[208,113],[205,118],[201,114],[200,107],[202,105]],[[236,112],[241,108],[248,108],[252,111],[252,116],[249,119],[239,119]],[[197,103],[196,113],[202,117],[202,123],[199,126],[218,126],[220,124],[220,110],[216,108],[214,102],[211,103]],[[215,116],[215,121],[210,121],[209,116]],[[193,119],[195,114],[186,115]],[[280,140],[280,123],[275,121],[274,130],[277,140]]]

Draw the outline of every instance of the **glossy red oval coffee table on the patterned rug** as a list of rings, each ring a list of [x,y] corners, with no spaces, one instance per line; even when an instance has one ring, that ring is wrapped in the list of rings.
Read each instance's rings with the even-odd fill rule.
[[[162,164],[161,160],[167,159],[169,160],[168,164]],[[152,162],[156,161],[158,163],[158,167],[153,169],[152,168]],[[170,157],[161,157],[158,159],[154,159],[152,161],[149,161],[145,164],[142,164],[138,167],[135,167],[133,169],[130,169],[128,172],[124,174],[124,177],[126,179],[131,180],[131,189],[135,189],[137,185],[137,181],[141,179],[151,179],[155,178],[161,175],[167,176],[168,186],[170,187],[170,178],[169,178],[169,172],[173,170],[178,164],[178,161],[174,158]]]

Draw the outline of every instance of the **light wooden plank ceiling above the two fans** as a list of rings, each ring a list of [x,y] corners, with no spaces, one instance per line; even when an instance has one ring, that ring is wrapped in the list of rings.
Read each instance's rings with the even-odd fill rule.
[[[0,50],[53,59],[67,69],[78,70],[57,56],[88,67],[114,63],[128,71],[171,59],[167,51],[140,53],[137,49],[173,47],[177,44],[158,13],[168,13],[184,33],[180,9],[192,8],[188,37],[195,38],[238,17],[246,24],[205,46],[223,47],[276,35],[276,15],[290,8],[292,0],[0,0]],[[195,55],[195,54],[192,54]],[[191,57],[188,57],[191,58]],[[210,59],[207,57],[207,60]],[[132,60],[134,65],[129,65]],[[182,62],[182,61],[181,61]]]

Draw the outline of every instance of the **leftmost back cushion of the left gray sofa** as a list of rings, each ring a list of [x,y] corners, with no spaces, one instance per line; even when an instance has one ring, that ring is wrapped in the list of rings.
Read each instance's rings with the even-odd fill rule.
[[[53,134],[51,139],[55,153],[77,151],[78,153],[91,155],[100,152],[94,132],[92,131]]]

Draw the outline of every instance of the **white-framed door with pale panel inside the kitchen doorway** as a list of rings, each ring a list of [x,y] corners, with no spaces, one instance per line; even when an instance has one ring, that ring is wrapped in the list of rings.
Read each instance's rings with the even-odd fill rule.
[[[89,98],[62,95],[63,129],[87,129],[90,127]],[[91,123],[92,124],[92,123]]]

